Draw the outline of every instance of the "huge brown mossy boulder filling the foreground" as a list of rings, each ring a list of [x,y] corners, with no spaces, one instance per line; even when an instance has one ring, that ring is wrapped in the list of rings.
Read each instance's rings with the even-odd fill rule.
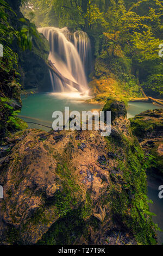
[[[6,143],[1,244],[154,243],[151,217],[144,214],[143,153],[120,113],[106,138],[99,131],[33,129]]]

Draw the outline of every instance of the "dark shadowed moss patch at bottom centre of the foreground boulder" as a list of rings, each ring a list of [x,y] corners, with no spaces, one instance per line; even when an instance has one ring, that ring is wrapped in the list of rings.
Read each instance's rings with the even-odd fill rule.
[[[71,210],[59,218],[37,245],[72,245],[82,235],[88,237],[90,225],[94,230],[98,230],[100,222],[95,217],[91,216],[85,220],[91,214],[91,207],[92,200],[87,193],[84,206],[79,206],[78,209]]]

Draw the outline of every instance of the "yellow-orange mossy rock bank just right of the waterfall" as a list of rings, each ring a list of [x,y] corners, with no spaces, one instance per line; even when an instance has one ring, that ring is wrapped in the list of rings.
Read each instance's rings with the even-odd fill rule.
[[[129,101],[142,97],[134,75],[131,75],[130,60],[126,57],[101,56],[96,59],[89,83],[94,96],[91,103],[104,103],[106,99]]]

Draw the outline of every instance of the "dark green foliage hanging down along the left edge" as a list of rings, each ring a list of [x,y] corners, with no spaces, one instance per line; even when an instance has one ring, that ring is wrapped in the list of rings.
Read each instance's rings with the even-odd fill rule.
[[[16,81],[18,56],[11,50],[10,45],[16,40],[23,50],[31,48],[31,34],[34,34],[34,25],[23,26],[21,32],[16,31],[10,25],[9,15],[16,16],[9,5],[0,0],[0,44],[3,45],[3,57],[0,57],[0,137],[9,135],[9,132],[14,130],[27,128],[27,125],[17,118],[21,108],[20,84]]]

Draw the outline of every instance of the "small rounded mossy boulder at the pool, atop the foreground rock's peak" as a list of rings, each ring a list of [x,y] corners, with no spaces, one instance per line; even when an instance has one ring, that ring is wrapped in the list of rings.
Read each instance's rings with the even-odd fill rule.
[[[127,116],[126,105],[122,101],[120,102],[117,100],[108,100],[103,107],[103,111],[105,113],[107,111],[111,111],[111,122],[116,118],[125,118]]]

